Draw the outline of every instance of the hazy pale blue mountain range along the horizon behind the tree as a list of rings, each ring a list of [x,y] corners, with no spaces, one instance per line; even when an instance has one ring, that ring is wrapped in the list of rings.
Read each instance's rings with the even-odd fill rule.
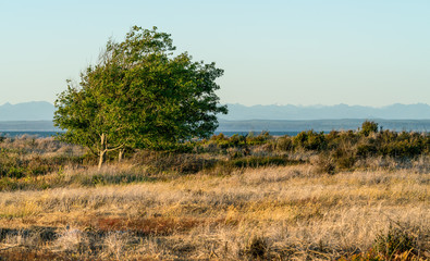
[[[228,104],[229,114],[221,120],[340,120],[340,119],[384,119],[384,120],[430,120],[430,105],[392,104],[381,108],[361,105],[251,105]],[[0,105],[0,121],[52,121],[54,107],[47,101],[32,101]]]

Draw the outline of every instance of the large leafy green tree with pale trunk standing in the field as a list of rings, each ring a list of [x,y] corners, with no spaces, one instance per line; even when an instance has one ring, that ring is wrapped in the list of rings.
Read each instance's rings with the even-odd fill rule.
[[[122,42],[109,40],[99,62],[81,75],[78,86],[56,101],[60,139],[99,156],[126,148],[172,149],[193,137],[208,137],[226,113],[214,94],[223,74],[214,63],[174,55],[169,34],[134,26]]]

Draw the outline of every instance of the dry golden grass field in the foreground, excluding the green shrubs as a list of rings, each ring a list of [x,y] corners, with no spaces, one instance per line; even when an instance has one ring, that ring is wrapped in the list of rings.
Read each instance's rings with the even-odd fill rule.
[[[139,184],[3,191],[0,249],[12,248],[0,250],[0,257],[28,251],[36,259],[332,260],[367,251],[378,235],[400,226],[417,235],[419,257],[426,259],[430,173],[425,167],[429,162],[420,161],[418,171],[328,175],[302,164],[224,176],[200,172]],[[128,169],[136,172],[122,165],[111,169],[111,175]],[[65,175],[87,171],[67,170]],[[44,238],[46,227],[54,236]]]

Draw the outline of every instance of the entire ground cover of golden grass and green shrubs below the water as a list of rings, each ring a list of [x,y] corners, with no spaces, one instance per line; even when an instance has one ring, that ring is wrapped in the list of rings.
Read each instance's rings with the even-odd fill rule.
[[[0,142],[0,260],[429,260],[430,136],[222,134],[119,163]]]

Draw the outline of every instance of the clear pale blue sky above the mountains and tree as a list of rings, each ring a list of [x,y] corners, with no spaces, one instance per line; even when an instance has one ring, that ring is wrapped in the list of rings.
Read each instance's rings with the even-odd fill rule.
[[[0,104],[53,102],[133,25],[223,69],[221,103],[430,103],[428,0],[0,0]]]

